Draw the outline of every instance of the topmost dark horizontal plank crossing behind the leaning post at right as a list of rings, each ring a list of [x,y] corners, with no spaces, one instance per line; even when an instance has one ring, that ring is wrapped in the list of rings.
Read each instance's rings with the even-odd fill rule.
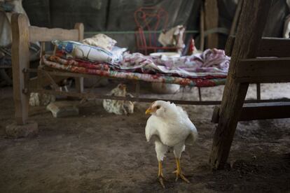
[[[233,52],[235,36],[229,36],[226,43],[226,55]],[[290,39],[287,38],[262,38],[257,51],[257,57],[289,57]]]

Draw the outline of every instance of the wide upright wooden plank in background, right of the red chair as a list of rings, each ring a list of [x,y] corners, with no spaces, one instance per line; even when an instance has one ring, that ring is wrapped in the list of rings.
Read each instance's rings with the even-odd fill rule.
[[[216,0],[205,0],[205,30],[214,29],[219,26],[219,8]],[[217,48],[218,34],[207,36],[207,48]]]

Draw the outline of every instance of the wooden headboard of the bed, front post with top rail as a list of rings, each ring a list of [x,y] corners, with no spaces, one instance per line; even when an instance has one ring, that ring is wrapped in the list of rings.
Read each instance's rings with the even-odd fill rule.
[[[17,107],[15,108],[15,119],[18,124],[25,124],[28,115],[23,112],[27,112],[29,96],[23,93],[27,93],[28,85],[25,85],[25,82],[31,82],[27,81],[24,73],[26,69],[29,69],[29,43],[39,41],[44,45],[45,41],[53,41],[55,39],[81,41],[84,27],[81,23],[77,23],[74,29],[33,27],[29,26],[26,15],[14,13],[11,18],[11,28],[13,95],[14,103]]]

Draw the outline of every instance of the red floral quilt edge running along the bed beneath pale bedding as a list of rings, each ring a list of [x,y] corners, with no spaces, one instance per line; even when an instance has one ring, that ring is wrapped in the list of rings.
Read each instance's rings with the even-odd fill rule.
[[[184,86],[188,85],[191,87],[214,87],[216,85],[224,85],[226,82],[225,73],[223,73],[222,76],[221,75],[214,76],[214,73],[208,73],[207,76],[204,75],[200,77],[196,76],[196,77],[183,78],[180,76],[173,76],[173,75],[170,76],[170,74],[164,74],[164,73],[153,74],[153,73],[137,72],[138,69],[141,71],[142,69],[145,69],[145,71],[151,72],[150,68],[140,68],[140,67],[132,68],[132,66],[130,65],[125,66],[126,68],[120,68],[120,66],[116,64],[88,62],[82,59],[63,59],[60,56],[44,55],[42,58],[42,62],[46,66],[50,66],[54,69],[60,69],[64,71],[74,72],[74,73],[94,74],[96,76],[105,76],[108,78],[143,80],[146,82],[170,83],[170,84],[178,84],[178,85],[184,85]],[[134,60],[134,62],[137,62],[137,61]],[[127,64],[133,64],[133,60],[132,62],[129,62]]]

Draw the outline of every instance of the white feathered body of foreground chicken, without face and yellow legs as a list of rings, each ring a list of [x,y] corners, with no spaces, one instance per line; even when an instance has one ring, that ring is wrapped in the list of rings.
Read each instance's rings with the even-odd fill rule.
[[[196,141],[198,131],[188,118],[186,111],[180,106],[170,102],[155,101],[151,108],[156,106],[160,108],[156,108],[156,112],[152,113],[147,120],[146,139],[150,141],[152,136],[158,136],[158,143],[174,147],[174,155],[180,157],[181,152],[184,151],[185,143]],[[161,149],[164,150],[165,148],[156,148],[156,153],[159,155],[158,160],[164,156],[163,152],[158,151]]]

